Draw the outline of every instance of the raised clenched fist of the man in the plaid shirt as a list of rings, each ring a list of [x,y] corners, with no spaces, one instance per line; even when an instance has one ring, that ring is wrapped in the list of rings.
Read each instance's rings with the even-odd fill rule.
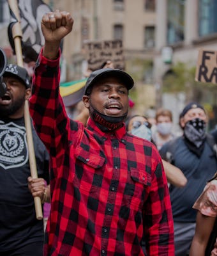
[[[71,32],[73,19],[68,12],[49,12],[43,15],[41,30],[45,37],[43,55],[51,60],[57,58],[59,45],[64,36]]]

